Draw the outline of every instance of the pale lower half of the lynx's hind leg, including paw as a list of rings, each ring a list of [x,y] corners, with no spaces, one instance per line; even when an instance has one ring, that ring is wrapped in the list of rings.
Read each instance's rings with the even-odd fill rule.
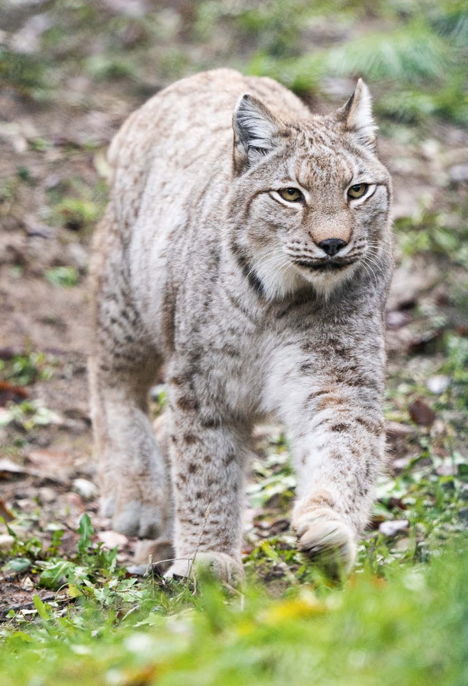
[[[90,364],[102,513],[128,536],[156,539],[172,520],[169,476],[146,414],[145,385]],[[110,378],[109,378],[110,377]]]

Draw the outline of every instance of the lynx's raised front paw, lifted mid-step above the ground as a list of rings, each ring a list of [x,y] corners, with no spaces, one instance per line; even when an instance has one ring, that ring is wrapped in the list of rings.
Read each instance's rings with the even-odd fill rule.
[[[351,527],[336,512],[318,508],[294,521],[299,550],[317,560],[329,576],[347,574],[356,555]]]

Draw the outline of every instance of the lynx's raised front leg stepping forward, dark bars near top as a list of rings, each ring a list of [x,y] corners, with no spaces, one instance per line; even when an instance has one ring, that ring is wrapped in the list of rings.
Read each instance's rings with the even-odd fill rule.
[[[340,573],[355,559],[384,460],[384,355],[379,339],[368,341],[365,354],[357,346],[338,355],[325,349],[320,359],[316,346],[290,375],[296,383],[284,417],[299,477],[292,513],[299,549]]]

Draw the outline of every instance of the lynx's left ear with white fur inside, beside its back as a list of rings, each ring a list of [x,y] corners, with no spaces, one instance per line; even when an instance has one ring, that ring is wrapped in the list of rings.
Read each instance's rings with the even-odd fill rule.
[[[234,163],[238,171],[274,149],[281,122],[253,95],[242,95],[233,114]]]

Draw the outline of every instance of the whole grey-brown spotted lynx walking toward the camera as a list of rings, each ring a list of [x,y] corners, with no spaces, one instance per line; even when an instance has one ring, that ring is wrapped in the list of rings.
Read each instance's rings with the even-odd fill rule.
[[[252,429],[272,415],[294,453],[299,549],[353,564],[384,459],[392,190],[375,129],[361,80],[323,116],[220,69],[152,97],[110,146],[91,265],[102,509],[156,539],[169,576],[195,557],[242,579]]]

